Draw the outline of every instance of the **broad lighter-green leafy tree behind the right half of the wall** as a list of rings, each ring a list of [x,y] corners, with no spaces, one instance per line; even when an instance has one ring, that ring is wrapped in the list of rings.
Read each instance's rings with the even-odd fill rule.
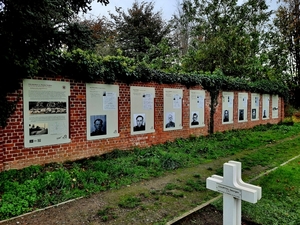
[[[261,79],[264,26],[271,12],[264,0],[188,0],[184,16],[193,24],[193,41],[183,63],[186,70],[216,69],[225,75]]]

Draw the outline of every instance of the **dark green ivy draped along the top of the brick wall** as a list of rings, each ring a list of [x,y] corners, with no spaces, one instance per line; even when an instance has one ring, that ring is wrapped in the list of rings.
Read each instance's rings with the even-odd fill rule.
[[[211,95],[211,124],[213,132],[213,115],[220,91],[250,91],[253,93],[278,94],[288,99],[289,90],[283,83],[270,80],[251,82],[241,78],[226,77],[221,71],[211,73],[170,73],[150,69],[144,62],[123,56],[106,56],[89,53],[80,49],[71,52],[56,52],[48,55],[45,67],[40,69],[39,76],[60,75],[83,82],[103,81],[105,83],[124,82],[130,84],[135,81],[157,83],[181,83],[187,88],[201,85]],[[29,77],[28,77],[29,78]],[[8,102],[5,97],[0,99],[2,112],[0,125],[6,126],[6,121],[14,111],[15,104]]]

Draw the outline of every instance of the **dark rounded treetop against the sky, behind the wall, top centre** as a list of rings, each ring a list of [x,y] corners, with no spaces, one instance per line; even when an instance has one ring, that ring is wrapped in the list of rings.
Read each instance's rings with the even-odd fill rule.
[[[169,27],[162,20],[160,12],[153,12],[153,2],[135,1],[128,14],[117,8],[117,15],[110,14],[117,32],[118,47],[125,56],[142,60],[150,46],[157,45],[169,33]],[[153,56],[156,57],[156,56]]]

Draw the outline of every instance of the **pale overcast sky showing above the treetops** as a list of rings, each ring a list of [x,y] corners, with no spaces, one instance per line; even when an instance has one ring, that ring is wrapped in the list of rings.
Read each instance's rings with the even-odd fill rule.
[[[84,15],[85,18],[96,19],[97,17],[106,16],[109,17],[108,12],[116,14],[115,7],[122,7],[122,9],[127,12],[127,9],[132,8],[132,4],[135,0],[110,0],[107,6],[97,3],[96,0],[92,3],[92,10]],[[161,11],[162,18],[164,20],[170,20],[172,15],[177,12],[178,2],[181,0],[139,0],[138,2],[154,2],[154,12]],[[245,0],[239,0],[239,2],[244,2]],[[267,0],[267,4],[270,6],[269,9],[277,9],[276,0]]]

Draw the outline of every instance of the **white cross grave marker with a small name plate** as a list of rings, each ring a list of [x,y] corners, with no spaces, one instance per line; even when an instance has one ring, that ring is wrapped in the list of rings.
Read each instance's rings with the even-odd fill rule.
[[[223,225],[241,225],[242,200],[257,203],[261,187],[242,181],[242,164],[229,161],[223,165],[224,177],[212,175],[206,179],[206,188],[223,194]]]

